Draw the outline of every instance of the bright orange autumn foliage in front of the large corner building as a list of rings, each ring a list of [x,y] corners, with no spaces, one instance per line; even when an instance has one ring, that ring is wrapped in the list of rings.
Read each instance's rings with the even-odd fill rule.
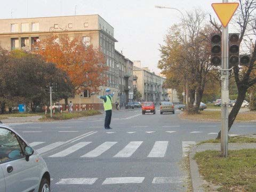
[[[37,42],[33,52],[42,55],[46,62],[53,62],[66,71],[79,91],[95,91],[98,86],[106,83],[106,78],[101,76],[107,70],[103,53],[92,45],[85,46],[81,37],[69,37],[68,34],[50,35]]]

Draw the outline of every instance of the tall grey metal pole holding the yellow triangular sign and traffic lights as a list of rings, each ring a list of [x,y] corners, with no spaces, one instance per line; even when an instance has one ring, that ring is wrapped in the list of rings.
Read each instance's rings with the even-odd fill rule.
[[[222,3],[228,3],[228,0],[222,0]],[[228,26],[222,27],[222,70],[221,71],[221,154],[224,157],[228,156]]]

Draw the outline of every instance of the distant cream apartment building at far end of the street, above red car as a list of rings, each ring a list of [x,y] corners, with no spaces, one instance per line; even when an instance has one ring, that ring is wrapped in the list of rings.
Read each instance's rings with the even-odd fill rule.
[[[168,100],[167,90],[163,87],[165,78],[151,73],[148,67],[141,67],[140,61],[133,61],[134,94],[139,91],[142,101],[153,101],[159,104]]]

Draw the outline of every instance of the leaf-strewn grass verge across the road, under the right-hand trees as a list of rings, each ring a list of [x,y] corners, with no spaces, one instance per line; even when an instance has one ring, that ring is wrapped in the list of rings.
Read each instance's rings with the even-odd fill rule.
[[[188,115],[186,113],[180,114],[182,119],[192,119],[192,120],[205,120],[205,121],[220,121],[221,111],[200,111],[199,114]],[[256,111],[246,111],[243,113],[238,113],[235,121],[255,121]]]

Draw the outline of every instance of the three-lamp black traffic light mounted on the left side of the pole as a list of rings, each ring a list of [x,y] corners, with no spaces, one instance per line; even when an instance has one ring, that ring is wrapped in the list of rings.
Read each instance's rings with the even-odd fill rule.
[[[221,66],[221,34],[211,34],[211,65]]]

